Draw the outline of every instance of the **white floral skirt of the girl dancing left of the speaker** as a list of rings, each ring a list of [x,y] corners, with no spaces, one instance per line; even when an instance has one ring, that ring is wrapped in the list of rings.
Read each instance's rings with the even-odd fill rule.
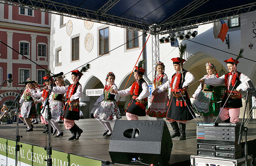
[[[119,108],[115,101],[102,101],[91,111],[98,121],[113,123],[122,118]]]

